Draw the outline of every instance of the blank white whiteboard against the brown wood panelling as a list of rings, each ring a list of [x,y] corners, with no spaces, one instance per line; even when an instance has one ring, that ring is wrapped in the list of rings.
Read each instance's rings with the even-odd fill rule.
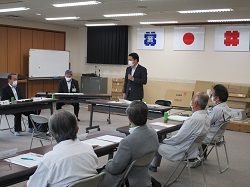
[[[29,50],[29,77],[64,76],[69,69],[69,51]]]

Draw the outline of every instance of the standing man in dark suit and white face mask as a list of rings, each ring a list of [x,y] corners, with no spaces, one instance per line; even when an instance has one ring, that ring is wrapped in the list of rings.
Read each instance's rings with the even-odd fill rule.
[[[123,99],[130,101],[143,99],[143,85],[147,84],[147,69],[139,63],[139,55],[130,53],[125,74]]]

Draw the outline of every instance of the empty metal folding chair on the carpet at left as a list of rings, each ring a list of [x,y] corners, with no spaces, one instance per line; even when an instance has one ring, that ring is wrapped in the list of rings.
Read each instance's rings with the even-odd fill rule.
[[[52,141],[54,140],[54,138],[52,136],[48,136],[46,134],[46,132],[41,132],[37,129],[35,123],[41,124],[41,125],[47,125],[48,123],[48,118],[46,118],[45,116],[41,116],[41,115],[35,115],[35,114],[30,114],[29,115],[31,123],[33,125],[33,132],[32,132],[32,137],[31,137],[31,142],[30,142],[30,149],[32,147],[32,142],[33,139],[38,139],[41,143],[41,145],[43,146],[42,140],[45,141],[50,141],[50,143],[52,144]]]

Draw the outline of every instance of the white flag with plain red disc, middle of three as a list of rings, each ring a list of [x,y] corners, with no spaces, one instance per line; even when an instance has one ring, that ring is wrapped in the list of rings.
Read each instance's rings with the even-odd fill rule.
[[[174,50],[204,50],[205,27],[175,27]]]

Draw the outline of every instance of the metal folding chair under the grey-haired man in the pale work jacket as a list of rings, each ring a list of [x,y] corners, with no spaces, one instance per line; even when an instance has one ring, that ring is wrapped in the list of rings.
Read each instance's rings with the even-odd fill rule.
[[[190,183],[191,186],[193,186],[193,180],[192,180],[192,174],[191,174],[191,169],[190,169],[190,156],[189,156],[189,152],[190,150],[192,150],[194,148],[195,145],[198,145],[198,149],[200,151],[200,155],[201,157],[199,157],[199,160],[201,162],[202,165],[202,173],[203,173],[203,179],[204,179],[204,186],[206,186],[206,177],[205,177],[205,171],[204,171],[204,165],[203,165],[203,151],[201,148],[201,143],[202,141],[205,139],[206,134],[202,134],[202,135],[198,135],[194,138],[194,140],[192,141],[192,143],[189,145],[189,147],[187,148],[187,150],[184,153],[184,156],[182,157],[181,160],[179,160],[178,165],[176,166],[176,168],[174,169],[174,171],[171,173],[170,177],[168,178],[166,184],[164,185],[164,187],[166,186],[170,186],[171,184],[173,184],[182,174],[182,172],[184,171],[184,169],[187,167],[188,168],[188,173],[189,173],[189,179],[190,179]],[[181,169],[181,171],[179,172],[179,174],[177,174],[177,176],[171,181],[171,178],[173,177],[173,175],[175,174],[175,172],[177,171],[177,169],[179,168],[179,166],[181,165],[181,163],[185,163],[183,168]]]

